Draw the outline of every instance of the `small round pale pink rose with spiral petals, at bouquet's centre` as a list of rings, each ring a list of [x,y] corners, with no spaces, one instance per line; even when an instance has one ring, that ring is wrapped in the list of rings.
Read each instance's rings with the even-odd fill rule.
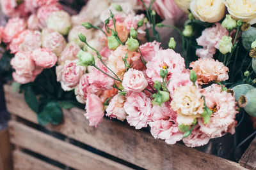
[[[148,86],[148,81],[142,71],[129,69],[124,73],[122,85],[127,92],[141,92]]]

